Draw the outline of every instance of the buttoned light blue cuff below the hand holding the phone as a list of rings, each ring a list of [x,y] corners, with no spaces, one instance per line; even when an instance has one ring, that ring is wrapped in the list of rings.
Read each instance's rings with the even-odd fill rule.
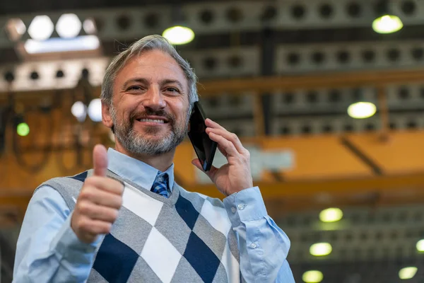
[[[244,221],[261,219],[268,215],[259,187],[235,192],[223,200],[232,226],[239,226]]]

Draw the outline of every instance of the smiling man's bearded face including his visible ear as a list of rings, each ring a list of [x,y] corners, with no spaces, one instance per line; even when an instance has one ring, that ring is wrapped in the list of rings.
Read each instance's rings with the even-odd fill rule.
[[[188,93],[175,59],[160,50],[145,52],[117,74],[112,105],[108,110],[104,105],[104,122],[110,120],[107,126],[114,125],[117,142],[132,154],[170,152],[187,134]]]

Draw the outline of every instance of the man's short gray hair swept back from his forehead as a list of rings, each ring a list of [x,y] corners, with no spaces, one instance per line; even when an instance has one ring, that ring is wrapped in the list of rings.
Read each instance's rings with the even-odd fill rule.
[[[171,45],[165,37],[160,35],[148,35],[143,37],[141,40],[137,40],[130,45],[128,49],[119,53],[116,57],[114,57],[114,59],[112,59],[112,62],[110,62],[109,67],[106,69],[105,76],[103,77],[102,93],[100,94],[102,101],[107,105],[112,105],[114,79],[118,72],[125,67],[126,62],[128,62],[129,59],[150,50],[160,50],[170,54],[170,56],[177,61],[182,71],[184,71],[184,75],[189,86],[189,110],[191,111],[193,103],[199,100],[199,96],[197,94],[197,76],[194,74],[194,70],[190,67],[189,62],[184,60],[178,54],[175,47]]]

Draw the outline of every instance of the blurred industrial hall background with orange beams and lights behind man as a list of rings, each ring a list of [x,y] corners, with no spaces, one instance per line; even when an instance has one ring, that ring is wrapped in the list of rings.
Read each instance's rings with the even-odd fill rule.
[[[251,152],[296,282],[424,282],[421,0],[1,0],[1,282],[33,190],[114,146],[102,76],[150,34],[177,45],[206,114]],[[177,182],[222,198],[192,158],[186,140]]]

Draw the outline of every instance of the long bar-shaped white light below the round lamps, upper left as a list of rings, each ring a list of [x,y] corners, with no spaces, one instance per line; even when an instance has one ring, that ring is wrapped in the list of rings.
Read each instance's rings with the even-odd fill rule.
[[[100,40],[95,35],[81,35],[70,39],[50,38],[45,41],[27,40],[24,47],[29,54],[76,52],[96,50],[100,47]]]

